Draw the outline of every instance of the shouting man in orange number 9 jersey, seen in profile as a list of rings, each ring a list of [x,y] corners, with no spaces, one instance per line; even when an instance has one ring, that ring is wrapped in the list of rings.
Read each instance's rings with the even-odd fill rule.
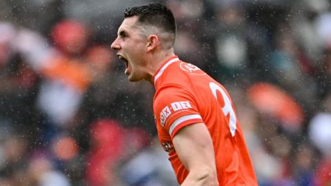
[[[130,81],[156,89],[159,141],[181,185],[257,185],[232,101],[225,88],[174,55],[176,22],[158,3],[124,13],[111,47]]]

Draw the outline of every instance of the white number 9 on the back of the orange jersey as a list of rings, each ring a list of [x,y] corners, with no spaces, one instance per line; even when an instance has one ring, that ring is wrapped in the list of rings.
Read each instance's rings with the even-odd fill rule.
[[[229,126],[230,126],[230,132],[232,134],[232,136],[235,135],[236,132],[236,123],[237,123],[237,118],[236,118],[236,114],[234,114],[234,110],[232,108],[231,105],[231,101],[228,97],[227,94],[225,94],[224,90],[219,87],[219,85],[217,85],[216,83],[209,83],[209,87],[210,90],[212,90],[212,94],[214,95],[214,97],[216,99],[217,98],[217,91],[221,92],[223,100],[224,100],[224,107],[222,107],[223,113],[225,116],[228,116],[228,114],[230,114],[230,121],[229,121]]]

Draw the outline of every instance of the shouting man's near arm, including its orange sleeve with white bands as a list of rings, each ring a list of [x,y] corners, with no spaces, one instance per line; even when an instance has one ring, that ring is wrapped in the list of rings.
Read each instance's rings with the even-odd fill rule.
[[[194,96],[181,87],[164,88],[155,96],[154,115],[159,135],[171,138],[189,171],[183,185],[217,185],[214,145]]]

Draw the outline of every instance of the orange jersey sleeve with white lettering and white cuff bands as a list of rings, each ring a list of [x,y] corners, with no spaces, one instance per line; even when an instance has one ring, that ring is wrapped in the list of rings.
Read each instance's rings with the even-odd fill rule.
[[[154,116],[158,127],[167,132],[171,138],[182,127],[203,122],[192,95],[177,86],[165,87],[155,97]]]

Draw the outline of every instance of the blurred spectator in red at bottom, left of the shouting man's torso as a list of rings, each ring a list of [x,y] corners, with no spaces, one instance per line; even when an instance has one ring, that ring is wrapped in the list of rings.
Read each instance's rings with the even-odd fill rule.
[[[90,185],[117,185],[115,167],[125,156],[125,131],[117,121],[97,121],[90,130],[92,148],[87,159],[86,178]]]

